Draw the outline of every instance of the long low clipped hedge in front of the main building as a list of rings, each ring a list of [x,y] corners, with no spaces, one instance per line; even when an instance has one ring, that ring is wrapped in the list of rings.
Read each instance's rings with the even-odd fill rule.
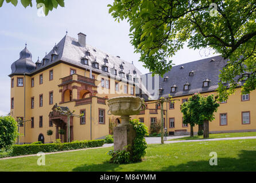
[[[61,144],[24,144],[13,145],[11,156],[20,156],[26,154],[37,154],[38,152],[58,152],[63,150],[84,149],[103,146],[104,140],[78,141]]]

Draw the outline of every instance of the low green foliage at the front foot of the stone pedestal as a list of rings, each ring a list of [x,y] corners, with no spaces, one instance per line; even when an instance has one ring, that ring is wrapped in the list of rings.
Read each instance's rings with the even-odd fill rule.
[[[107,154],[111,156],[111,163],[128,164],[130,162],[130,152],[126,150],[110,150]]]

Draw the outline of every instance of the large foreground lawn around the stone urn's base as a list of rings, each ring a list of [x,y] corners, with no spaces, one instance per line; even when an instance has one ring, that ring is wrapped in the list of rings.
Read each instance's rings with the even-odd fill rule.
[[[179,142],[149,145],[142,162],[110,164],[100,148],[48,154],[45,166],[37,156],[0,160],[0,171],[256,171],[256,140]],[[218,153],[218,165],[210,166],[210,152]]]

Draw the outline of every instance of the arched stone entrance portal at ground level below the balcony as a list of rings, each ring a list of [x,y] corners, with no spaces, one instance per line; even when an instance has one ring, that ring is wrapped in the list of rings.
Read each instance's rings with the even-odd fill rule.
[[[68,140],[68,117],[57,112],[56,108],[61,108],[62,110],[68,110],[67,107],[53,106],[52,112],[49,114],[49,120],[52,120],[53,124],[56,126],[56,139],[60,138],[62,142],[67,142]],[[59,130],[65,132],[64,134],[59,134]],[[73,117],[70,117],[70,141],[73,141]]]

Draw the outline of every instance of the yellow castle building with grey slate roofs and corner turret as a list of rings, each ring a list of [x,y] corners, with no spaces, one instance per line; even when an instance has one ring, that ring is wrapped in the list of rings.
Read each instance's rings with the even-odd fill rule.
[[[169,134],[186,134],[190,128],[182,123],[180,105],[194,93],[216,94],[218,75],[225,65],[226,61],[216,56],[174,66],[164,77],[152,77],[151,73],[142,74],[133,63],[88,45],[83,33],[78,39],[65,35],[41,61],[38,58],[34,63],[25,47],[11,65],[10,114],[23,121],[19,127],[21,144],[57,138],[66,142],[68,117],[55,110],[59,107],[75,111],[70,118],[71,141],[93,140],[109,133],[110,121],[120,122],[117,116],[108,114],[108,98],[145,98],[146,109],[132,118],[150,128],[161,117],[160,106],[147,104],[148,97],[170,94],[177,101],[164,104],[165,128]],[[210,122],[210,132],[256,130],[255,105],[255,90],[241,95],[238,87],[221,102],[215,120]],[[80,114],[83,117],[77,117]],[[47,136],[49,129],[53,136]]]

